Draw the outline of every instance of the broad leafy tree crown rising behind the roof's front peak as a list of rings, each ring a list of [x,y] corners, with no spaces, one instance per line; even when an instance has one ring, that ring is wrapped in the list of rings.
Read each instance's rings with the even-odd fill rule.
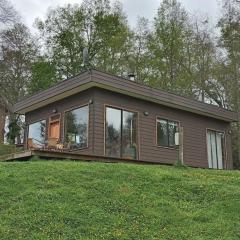
[[[109,1],[84,1],[49,11],[37,26],[59,79],[84,69],[82,50],[89,49],[90,64],[110,73],[122,73],[129,50],[128,28],[119,5]]]

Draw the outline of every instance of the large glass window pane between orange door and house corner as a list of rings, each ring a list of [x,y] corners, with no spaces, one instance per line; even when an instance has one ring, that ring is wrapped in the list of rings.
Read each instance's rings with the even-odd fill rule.
[[[65,144],[68,148],[88,146],[88,117],[88,105],[65,113]]]

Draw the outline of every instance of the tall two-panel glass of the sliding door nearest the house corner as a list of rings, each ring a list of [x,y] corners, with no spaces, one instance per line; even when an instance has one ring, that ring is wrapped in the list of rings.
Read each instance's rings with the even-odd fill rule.
[[[137,158],[137,113],[106,108],[105,151],[109,157]]]

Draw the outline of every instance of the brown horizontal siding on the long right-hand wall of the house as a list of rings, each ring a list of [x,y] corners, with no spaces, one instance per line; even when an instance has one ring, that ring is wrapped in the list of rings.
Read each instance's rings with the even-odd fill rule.
[[[183,158],[189,166],[208,168],[206,129],[225,132],[225,168],[232,169],[230,124],[181,110],[171,109],[106,90],[95,90],[94,154],[104,155],[104,105],[138,112],[139,160],[174,164],[176,149],[158,147],[156,118],[179,121],[183,127]],[[148,116],[143,114],[149,113]]]

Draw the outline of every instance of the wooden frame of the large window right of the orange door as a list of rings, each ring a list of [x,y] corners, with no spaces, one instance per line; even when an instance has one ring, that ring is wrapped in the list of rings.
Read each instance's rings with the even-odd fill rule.
[[[62,136],[62,139],[63,139],[63,144],[64,144],[65,143],[65,138],[66,138],[66,135],[65,135],[66,134],[66,113],[74,111],[78,108],[86,107],[86,106],[88,106],[87,146],[83,147],[83,148],[69,149],[68,150],[69,152],[75,152],[75,151],[84,150],[84,149],[89,148],[90,103],[85,103],[85,104],[82,104],[82,105],[79,105],[79,106],[74,106],[74,107],[68,108],[63,113],[63,117],[62,117],[62,119],[63,119],[63,136]]]

